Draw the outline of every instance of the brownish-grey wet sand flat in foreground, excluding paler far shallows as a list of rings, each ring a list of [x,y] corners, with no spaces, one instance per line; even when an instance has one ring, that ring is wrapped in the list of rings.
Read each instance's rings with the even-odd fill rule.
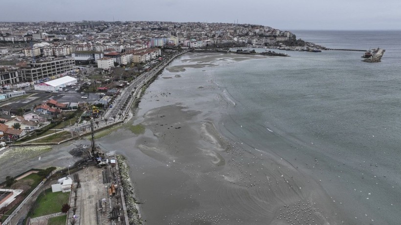
[[[147,160],[135,160],[133,177],[147,224],[340,220],[312,178],[273,154],[226,140],[201,115],[172,104],[143,116],[148,132],[137,138],[134,155]]]

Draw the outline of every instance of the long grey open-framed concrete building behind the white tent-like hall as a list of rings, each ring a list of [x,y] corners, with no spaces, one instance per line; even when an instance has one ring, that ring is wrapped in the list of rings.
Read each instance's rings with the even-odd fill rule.
[[[75,68],[72,57],[57,58],[52,61],[37,61],[31,63],[30,67],[21,69],[22,79],[27,82],[37,82],[41,79],[58,76]]]

